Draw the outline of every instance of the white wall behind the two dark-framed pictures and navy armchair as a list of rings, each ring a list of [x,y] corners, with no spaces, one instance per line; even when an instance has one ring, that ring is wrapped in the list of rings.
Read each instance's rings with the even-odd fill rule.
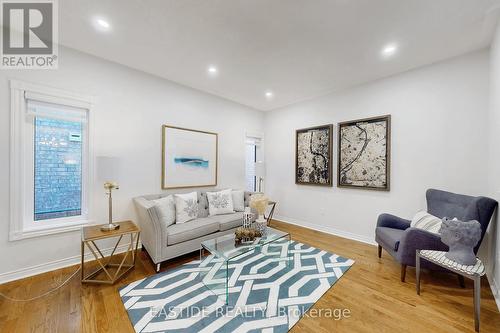
[[[425,209],[427,188],[487,194],[488,78],[484,50],[267,113],[276,217],[374,242],[377,216],[411,218]],[[392,115],[390,192],[295,185],[296,129],[384,114]],[[336,145],[334,133],[335,183]]]

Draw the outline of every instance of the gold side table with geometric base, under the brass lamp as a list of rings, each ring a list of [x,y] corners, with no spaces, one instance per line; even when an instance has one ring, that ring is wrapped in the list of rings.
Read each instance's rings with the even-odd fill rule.
[[[125,273],[130,271],[135,266],[136,251],[139,246],[139,236],[141,234],[141,229],[135,225],[132,221],[118,222],[120,227],[116,230],[102,231],[100,225],[93,225],[82,228],[82,241],[81,241],[81,254],[82,254],[82,283],[106,283],[114,284],[118,279],[120,279]],[[123,256],[120,263],[112,263],[111,260],[115,254],[118,245],[124,236],[130,236],[130,243],[128,245],[127,251]],[[108,257],[105,257],[102,251],[96,244],[96,241],[102,239],[109,239],[118,237],[113,251]],[[135,245],[135,248],[134,248]],[[85,275],[85,246],[94,255],[99,268],[87,275]],[[130,256],[130,261],[126,262],[127,258]],[[116,271],[112,273],[110,271],[111,267],[117,267]],[[97,279],[96,276],[99,273],[105,273],[105,279]]]

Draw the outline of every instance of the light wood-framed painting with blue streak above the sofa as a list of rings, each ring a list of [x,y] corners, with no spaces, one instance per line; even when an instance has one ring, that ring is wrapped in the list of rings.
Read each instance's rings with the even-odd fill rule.
[[[163,125],[162,189],[217,185],[217,133]]]

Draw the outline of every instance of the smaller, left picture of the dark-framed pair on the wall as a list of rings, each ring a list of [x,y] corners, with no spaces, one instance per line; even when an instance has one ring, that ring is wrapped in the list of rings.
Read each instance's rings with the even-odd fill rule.
[[[295,184],[332,186],[333,125],[295,134]]]

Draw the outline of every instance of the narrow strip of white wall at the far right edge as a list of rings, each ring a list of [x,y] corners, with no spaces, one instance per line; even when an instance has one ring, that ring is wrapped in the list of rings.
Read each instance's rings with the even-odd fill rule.
[[[489,195],[500,201],[500,25],[497,27],[495,37],[491,45],[491,77],[490,77],[490,113],[489,124],[489,173],[488,185]],[[498,223],[498,212],[495,215],[494,223],[486,234],[489,247],[484,249],[487,258],[488,277],[495,298],[500,308],[500,227]]]

